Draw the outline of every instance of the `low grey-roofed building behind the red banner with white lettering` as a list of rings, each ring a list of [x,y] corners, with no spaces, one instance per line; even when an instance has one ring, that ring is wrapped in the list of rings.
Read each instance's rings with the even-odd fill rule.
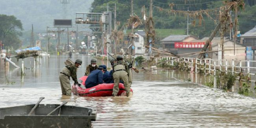
[[[169,37],[162,39],[160,44],[162,44],[163,50],[174,54],[178,54],[178,49],[180,49],[181,47],[175,47],[175,42],[176,44],[182,44],[181,42],[189,42],[195,39],[197,38],[192,35],[170,35]]]

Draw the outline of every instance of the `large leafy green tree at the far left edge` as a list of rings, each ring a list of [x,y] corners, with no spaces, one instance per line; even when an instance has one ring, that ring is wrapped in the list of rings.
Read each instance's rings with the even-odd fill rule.
[[[19,48],[22,35],[20,30],[23,30],[22,23],[15,16],[0,15],[0,40],[5,46]]]

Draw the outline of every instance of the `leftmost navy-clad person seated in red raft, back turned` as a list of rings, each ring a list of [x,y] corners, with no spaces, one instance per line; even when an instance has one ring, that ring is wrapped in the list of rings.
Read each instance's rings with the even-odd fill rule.
[[[98,84],[103,83],[103,65],[99,65],[99,67],[92,71],[90,75],[85,80],[86,89],[97,86]]]

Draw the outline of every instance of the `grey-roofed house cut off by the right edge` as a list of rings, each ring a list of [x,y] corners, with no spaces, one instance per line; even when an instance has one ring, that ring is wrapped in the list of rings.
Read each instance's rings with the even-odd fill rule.
[[[240,38],[241,44],[251,46],[252,50],[256,50],[256,26],[245,34],[242,34]]]

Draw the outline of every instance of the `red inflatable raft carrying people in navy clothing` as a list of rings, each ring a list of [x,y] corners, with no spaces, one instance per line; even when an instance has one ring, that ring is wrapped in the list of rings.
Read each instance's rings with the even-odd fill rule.
[[[71,89],[72,93],[75,95],[83,96],[83,97],[108,97],[112,96],[113,93],[113,83],[103,83],[99,84],[97,86],[91,87],[89,89],[85,88],[85,80],[87,79],[87,76],[83,76],[78,79],[78,82],[82,84],[81,86],[73,84]],[[132,89],[130,90],[131,92]],[[121,95],[124,90],[124,84],[119,83],[119,92],[117,95]]]

